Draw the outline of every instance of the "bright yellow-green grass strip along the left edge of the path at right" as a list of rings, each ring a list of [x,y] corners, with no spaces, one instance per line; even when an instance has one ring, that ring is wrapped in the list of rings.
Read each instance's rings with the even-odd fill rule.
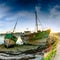
[[[46,57],[44,57],[44,60],[51,60],[52,57],[56,54],[56,46],[57,46],[58,41],[57,41],[56,37],[54,39],[55,39],[55,43],[52,45],[51,51],[48,52]]]

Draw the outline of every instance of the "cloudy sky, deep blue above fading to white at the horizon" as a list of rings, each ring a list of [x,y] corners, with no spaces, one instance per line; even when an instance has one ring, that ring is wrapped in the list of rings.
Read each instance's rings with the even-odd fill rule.
[[[0,0],[0,33],[35,31],[35,7],[38,13],[39,29],[51,28],[60,32],[60,0]]]

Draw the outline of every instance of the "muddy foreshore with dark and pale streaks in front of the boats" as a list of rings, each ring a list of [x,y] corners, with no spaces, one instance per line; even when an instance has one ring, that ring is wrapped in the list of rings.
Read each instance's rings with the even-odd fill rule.
[[[25,50],[21,51],[21,48],[24,47]],[[46,49],[44,47],[35,46],[35,45],[23,45],[23,47],[21,47],[20,45],[16,45],[12,48],[6,48],[4,45],[2,46],[0,45],[0,49],[1,48],[3,49],[0,50],[0,60],[29,60],[29,59],[36,59],[37,57],[41,58],[44,55],[42,51]]]

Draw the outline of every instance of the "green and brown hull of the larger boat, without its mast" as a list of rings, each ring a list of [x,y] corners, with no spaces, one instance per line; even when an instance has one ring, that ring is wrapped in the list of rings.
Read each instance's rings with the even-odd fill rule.
[[[38,32],[28,33],[28,34],[24,33],[21,36],[21,38],[24,44],[39,45],[40,43],[46,43],[49,34],[50,34],[50,30],[38,31]]]

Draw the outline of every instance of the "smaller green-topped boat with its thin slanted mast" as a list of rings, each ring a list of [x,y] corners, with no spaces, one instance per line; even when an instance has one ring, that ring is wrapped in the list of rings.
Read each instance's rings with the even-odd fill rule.
[[[4,45],[6,47],[10,47],[10,46],[13,46],[13,45],[16,44],[17,37],[14,35],[14,31],[15,31],[16,25],[17,25],[17,21],[16,21],[16,24],[14,26],[13,32],[11,32],[11,33],[9,32],[9,33],[5,34]]]

